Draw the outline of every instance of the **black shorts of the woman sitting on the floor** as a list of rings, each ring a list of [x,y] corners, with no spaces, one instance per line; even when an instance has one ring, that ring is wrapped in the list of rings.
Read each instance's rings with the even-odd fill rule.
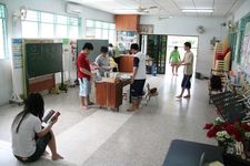
[[[52,138],[52,134],[49,132],[43,137],[40,137],[37,139],[37,149],[30,157],[28,157],[27,159],[23,159],[19,156],[16,156],[16,158],[18,158],[18,160],[27,162],[27,163],[38,160],[46,152],[46,147],[49,144],[51,138]]]

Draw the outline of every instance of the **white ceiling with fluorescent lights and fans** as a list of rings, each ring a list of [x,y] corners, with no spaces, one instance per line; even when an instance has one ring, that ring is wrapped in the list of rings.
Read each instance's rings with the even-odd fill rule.
[[[114,10],[136,10],[140,0],[66,0],[83,6],[119,14]],[[228,17],[246,0],[141,0],[142,8],[157,6],[150,9],[149,14],[160,17]],[[181,9],[213,9],[213,13],[183,13]],[[134,13],[134,12],[133,12]]]

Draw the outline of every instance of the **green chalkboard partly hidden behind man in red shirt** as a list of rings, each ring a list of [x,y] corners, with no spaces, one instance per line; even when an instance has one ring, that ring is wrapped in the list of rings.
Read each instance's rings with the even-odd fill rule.
[[[108,46],[109,45],[109,41],[108,40],[77,40],[77,53],[79,54],[82,50],[82,46],[86,43],[92,43],[93,45],[93,51],[91,51],[91,53],[89,54],[89,60],[90,62],[94,62],[96,58],[101,53],[100,49],[101,46]]]

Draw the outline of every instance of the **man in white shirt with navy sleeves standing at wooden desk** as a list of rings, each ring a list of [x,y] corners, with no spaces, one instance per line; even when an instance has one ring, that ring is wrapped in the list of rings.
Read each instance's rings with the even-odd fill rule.
[[[133,58],[133,75],[131,81],[131,98],[132,105],[128,112],[133,112],[139,108],[143,96],[143,87],[146,82],[146,55],[139,51],[137,43],[131,44],[130,50]]]

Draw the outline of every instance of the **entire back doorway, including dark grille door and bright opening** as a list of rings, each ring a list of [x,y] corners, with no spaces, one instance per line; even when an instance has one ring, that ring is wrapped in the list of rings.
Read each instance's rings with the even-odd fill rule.
[[[193,53],[193,71],[197,66],[197,53],[198,53],[198,37],[197,35],[161,35],[161,34],[141,34],[140,45],[141,51],[147,55],[149,64],[147,65],[147,73],[151,73],[151,66],[157,66],[158,74],[171,74],[171,65],[169,64],[170,53],[174,46],[178,46],[181,60],[184,56],[184,42],[191,43],[191,51]],[[181,73],[183,66],[180,66],[179,73]]]

